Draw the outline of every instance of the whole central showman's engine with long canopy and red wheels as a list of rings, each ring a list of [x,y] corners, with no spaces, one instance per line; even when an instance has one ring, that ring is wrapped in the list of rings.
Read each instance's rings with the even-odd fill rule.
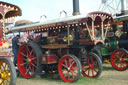
[[[102,72],[100,56],[91,52],[97,43],[104,43],[104,28],[113,19],[104,12],[92,12],[45,22],[13,27],[9,33],[20,32],[27,41],[18,52],[17,64],[21,75],[31,78],[45,73],[59,73],[65,82],[85,77],[99,77]],[[97,30],[95,29],[97,28]],[[97,40],[97,38],[100,38]]]

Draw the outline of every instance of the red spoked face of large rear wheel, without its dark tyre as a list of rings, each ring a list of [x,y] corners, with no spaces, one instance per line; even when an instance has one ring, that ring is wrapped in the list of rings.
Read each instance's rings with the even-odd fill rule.
[[[18,68],[21,75],[25,78],[31,78],[35,75],[37,67],[36,54],[31,46],[25,44],[20,47],[17,57]]]

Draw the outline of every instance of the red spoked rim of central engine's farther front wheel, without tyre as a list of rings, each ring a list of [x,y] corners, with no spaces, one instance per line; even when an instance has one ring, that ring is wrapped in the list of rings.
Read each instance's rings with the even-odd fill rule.
[[[99,63],[97,61],[97,59],[91,55],[88,54],[87,55],[87,64],[86,65],[82,65],[82,74],[83,76],[87,76],[89,78],[94,78],[97,76],[97,74],[99,73]]]

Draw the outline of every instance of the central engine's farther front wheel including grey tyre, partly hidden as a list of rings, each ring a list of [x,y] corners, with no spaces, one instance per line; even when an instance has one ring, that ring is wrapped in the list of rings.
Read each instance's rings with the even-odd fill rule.
[[[102,61],[95,53],[89,53],[86,56],[86,64],[82,65],[82,74],[85,77],[99,77],[102,72]]]

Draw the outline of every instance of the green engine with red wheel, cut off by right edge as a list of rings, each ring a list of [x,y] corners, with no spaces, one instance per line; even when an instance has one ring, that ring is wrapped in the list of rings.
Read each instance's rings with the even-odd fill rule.
[[[128,67],[127,17],[127,15],[122,15],[114,19],[107,33],[105,44],[100,49],[103,60],[110,59],[112,66],[119,71],[126,70]]]

